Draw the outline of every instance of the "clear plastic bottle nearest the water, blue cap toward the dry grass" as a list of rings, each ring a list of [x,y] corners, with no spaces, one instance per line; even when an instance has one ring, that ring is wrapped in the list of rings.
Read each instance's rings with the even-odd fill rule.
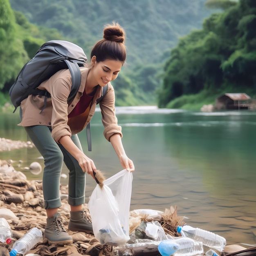
[[[189,237],[202,242],[203,245],[216,249],[219,252],[222,252],[227,244],[224,237],[207,230],[193,228],[189,225],[184,225],[183,227],[178,226],[177,231],[180,232],[183,237]]]

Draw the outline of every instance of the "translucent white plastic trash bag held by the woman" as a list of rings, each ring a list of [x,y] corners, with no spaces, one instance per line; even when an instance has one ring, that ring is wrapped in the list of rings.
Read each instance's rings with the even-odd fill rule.
[[[132,173],[126,169],[92,191],[88,208],[95,238],[103,245],[124,245],[129,239]]]

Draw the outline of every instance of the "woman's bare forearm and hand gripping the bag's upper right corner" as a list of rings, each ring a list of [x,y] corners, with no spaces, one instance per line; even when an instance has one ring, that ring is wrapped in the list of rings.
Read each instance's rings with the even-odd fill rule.
[[[121,136],[119,134],[114,134],[110,137],[110,142],[117,153],[117,157],[123,168],[127,171],[133,172],[135,170],[134,164],[131,159],[129,159],[124,151],[124,146],[122,144]]]

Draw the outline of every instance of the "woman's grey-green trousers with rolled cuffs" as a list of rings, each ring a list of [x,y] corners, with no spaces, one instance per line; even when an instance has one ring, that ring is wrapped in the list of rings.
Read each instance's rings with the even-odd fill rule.
[[[21,112],[20,112],[21,113]],[[85,173],[77,160],[52,137],[51,127],[38,125],[24,127],[27,135],[44,158],[43,196],[45,209],[61,207],[60,178],[63,162],[69,170],[68,203],[72,206],[85,202]],[[83,151],[77,135],[72,141]]]

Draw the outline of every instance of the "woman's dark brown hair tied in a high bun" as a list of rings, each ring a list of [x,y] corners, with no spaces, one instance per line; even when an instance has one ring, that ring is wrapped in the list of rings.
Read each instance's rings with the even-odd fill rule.
[[[117,22],[106,25],[103,30],[103,39],[92,48],[91,58],[96,56],[97,62],[112,59],[124,64],[126,60],[124,40],[125,31]]]

